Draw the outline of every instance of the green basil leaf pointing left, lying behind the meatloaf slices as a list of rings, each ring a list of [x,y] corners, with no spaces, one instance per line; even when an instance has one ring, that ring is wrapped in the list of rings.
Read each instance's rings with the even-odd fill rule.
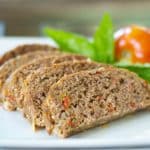
[[[62,51],[77,53],[95,59],[93,44],[84,36],[48,27],[44,28],[44,33],[52,38]]]

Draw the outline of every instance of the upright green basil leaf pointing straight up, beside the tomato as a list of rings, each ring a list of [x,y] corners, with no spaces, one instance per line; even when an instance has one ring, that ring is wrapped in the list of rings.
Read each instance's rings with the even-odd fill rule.
[[[105,14],[94,35],[96,60],[104,63],[114,62],[114,34],[111,17]]]

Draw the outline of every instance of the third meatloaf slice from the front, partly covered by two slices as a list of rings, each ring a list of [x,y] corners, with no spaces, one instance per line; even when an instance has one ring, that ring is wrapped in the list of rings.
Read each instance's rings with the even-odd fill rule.
[[[26,77],[33,71],[42,68],[50,67],[54,63],[64,61],[86,60],[87,58],[79,55],[64,54],[62,56],[50,56],[35,60],[27,65],[24,65],[11,74],[2,90],[4,107],[7,110],[21,109],[23,104],[23,85]]]

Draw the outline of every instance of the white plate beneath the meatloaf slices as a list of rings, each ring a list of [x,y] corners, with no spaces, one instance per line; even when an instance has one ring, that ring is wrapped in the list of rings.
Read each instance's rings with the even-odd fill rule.
[[[0,53],[21,43],[53,43],[46,38],[0,38]],[[150,146],[150,112],[141,112],[67,139],[34,133],[20,112],[0,107],[0,147],[132,147]]]

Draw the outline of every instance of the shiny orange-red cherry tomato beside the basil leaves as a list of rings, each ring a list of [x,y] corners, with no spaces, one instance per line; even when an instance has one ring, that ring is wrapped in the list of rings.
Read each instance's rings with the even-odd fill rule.
[[[118,31],[115,56],[117,60],[127,58],[132,63],[150,63],[150,29],[133,25]]]

